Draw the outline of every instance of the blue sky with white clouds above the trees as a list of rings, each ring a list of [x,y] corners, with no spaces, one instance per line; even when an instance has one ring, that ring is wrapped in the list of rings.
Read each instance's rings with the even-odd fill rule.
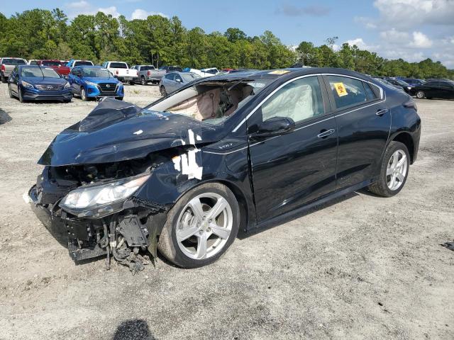
[[[388,59],[430,57],[454,69],[454,0],[16,0],[3,1],[0,12],[9,17],[56,7],[69,18],[96,11],[126,18],[178,16],[186,28],[206,33],[236,27],[253,36],[271,30],[286,45],[322,45],[336,36],[334,48],[348,42]]]

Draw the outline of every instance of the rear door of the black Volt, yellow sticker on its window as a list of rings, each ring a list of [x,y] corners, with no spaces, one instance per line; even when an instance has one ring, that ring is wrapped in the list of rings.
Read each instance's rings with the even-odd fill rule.
[[[336,108],[336,190],[341,190],[376,175],[389,137],[391,113],[379,86],[343,75],[323,78]]]

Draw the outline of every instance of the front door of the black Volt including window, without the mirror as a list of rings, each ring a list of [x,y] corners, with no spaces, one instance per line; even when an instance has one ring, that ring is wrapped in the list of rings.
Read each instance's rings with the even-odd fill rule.
[[[248,120],[259,223],[334,191],[337,127],[326,99],[321,77],[297,78],[270,96]],[[273,117],[292,118],[296,128],[277,137],[253,137],[258,125]]]

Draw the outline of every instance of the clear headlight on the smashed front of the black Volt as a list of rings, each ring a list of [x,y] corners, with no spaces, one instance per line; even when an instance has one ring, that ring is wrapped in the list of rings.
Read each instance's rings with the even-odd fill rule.
[[[150,175],[135,179],[122,179],[101,186],[78,188],[65,196],[60,202],[60,207],[74,215],[93,216],[109,215],[121,210],[121,205],[147,181]]]

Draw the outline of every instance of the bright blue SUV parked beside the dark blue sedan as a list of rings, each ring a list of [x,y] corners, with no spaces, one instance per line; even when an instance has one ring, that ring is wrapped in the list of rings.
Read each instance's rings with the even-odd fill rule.
[[[80,96],[82,101],[89,98],[111,96],[123,100],[123,83],[116,79],[108,69],[100,66],[77,66],[71,70],[68,77],[74,96]]]

